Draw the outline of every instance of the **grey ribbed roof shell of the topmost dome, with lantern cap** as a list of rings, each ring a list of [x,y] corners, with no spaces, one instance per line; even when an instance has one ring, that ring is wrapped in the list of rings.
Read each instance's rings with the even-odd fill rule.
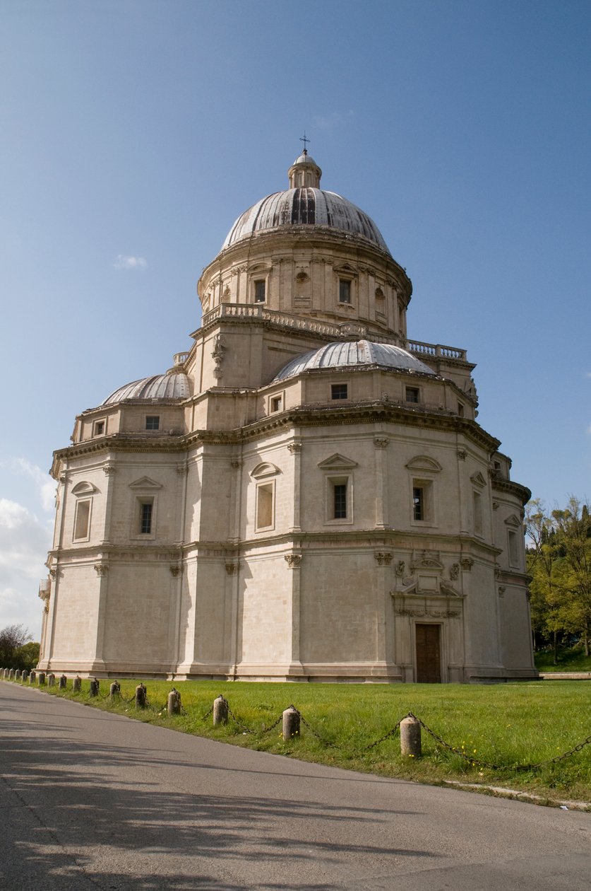
[[[308,157],[301,163],[304,164],[306,161],[309,163],[310,160]],[[236,220],[223,242],[222,249],[258,233],[299,225],[326,226],[341,233],[359,235],[372,241],[386,254],[390,254],[382,233],[363,210],[336,192],[324,192],[314,188],[273,192],[272,195],[257,201]]]

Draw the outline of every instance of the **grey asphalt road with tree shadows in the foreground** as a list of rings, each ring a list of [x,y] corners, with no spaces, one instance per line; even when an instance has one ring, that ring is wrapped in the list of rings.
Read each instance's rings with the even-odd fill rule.
[[[591,814],[201,740],[0,683],[1,891],[589,891]]]

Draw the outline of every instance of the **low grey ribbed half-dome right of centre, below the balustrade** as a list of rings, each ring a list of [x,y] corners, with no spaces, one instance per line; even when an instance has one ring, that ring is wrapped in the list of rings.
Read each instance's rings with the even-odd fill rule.
[[[381,368],[396,368],[405,372],[431,374],[435,372],[406,349],[389,343],[374,343],[371,340],[358,340],[346,343],[328,343],[320,349],[312,349],[304,356],[297,356],[275,375],[275,380],[295,378],[302,372],[322,368],[354,368],[355,366],[378,365]]]

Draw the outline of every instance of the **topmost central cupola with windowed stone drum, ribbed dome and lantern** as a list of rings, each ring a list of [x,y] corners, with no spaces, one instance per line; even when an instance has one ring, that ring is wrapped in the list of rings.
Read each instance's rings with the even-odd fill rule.
[[[240,214],[203,270],[204,324],[230,316],[273,323],[279,312],[292,327],[310,319],[338,337],[342,325],[359,324],[360,334],[403,343],[412,284],[372,218],[320,188],[322,171],[305,150],[287,176],[289,188]]]

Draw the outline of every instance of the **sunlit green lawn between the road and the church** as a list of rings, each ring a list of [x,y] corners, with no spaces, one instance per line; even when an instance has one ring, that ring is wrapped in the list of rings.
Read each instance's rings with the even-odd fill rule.
[[[88,698],[88,681],[80,694],[72,693],[71,681],[65,694],[56,687],[51,692],[178,731],[321,764],[427,783],[456,780],[507,786],[549,801],[591,802],[591,745],[558,763],[531,766],[561,755],[591,734],[591,682],[486,686],[176,682],[183,714],[174,717],[168,717],[165,708],[173,683],[145,681],[150,707],[143,711],[129,701],[136,683],[121,682],[121,699],[114,703],[103,698],[109,692],[108,680],[101,681],[99,699]],[[206,713],[220,693],[239,723],[231,720],[213,727],[212,716]],[[284,741],[280,723],[264,732],[292,703],[305,722],[300,736]],[[425,731],[420,759],[401,756],[398,734],[368,748],[409,711],[464,756],[450,752]],[[245,732],[241,724],[253,732]]]

